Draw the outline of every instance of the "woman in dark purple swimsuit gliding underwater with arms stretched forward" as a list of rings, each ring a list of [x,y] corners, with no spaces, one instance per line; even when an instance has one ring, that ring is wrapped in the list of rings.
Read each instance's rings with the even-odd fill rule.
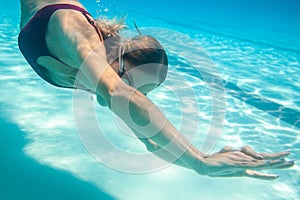
[[[145,96],[168,71],[167,54],[155,38],[139,34],[124,41],[122,24],[94,20],[76,0],[21,0],[20,27],[19,48],[40,77],[57,87],[96,94],[99,104],[117,114],[150,152],[160,149],[160,158],[217,177],[275,179],[256,170],[294,165],[284,159],[287,151],[224,147],[206,155],[191,145]],[[123,104],[130,105],[130,116]]]

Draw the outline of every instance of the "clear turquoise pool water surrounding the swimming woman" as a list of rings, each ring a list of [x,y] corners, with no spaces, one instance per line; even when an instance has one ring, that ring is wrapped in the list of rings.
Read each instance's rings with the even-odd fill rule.
[[[267,152],[291,149],[296,165],[270,170],[280,178],[261,181],[209,178],[176,166],[125,173],[126,160],[116,154],[111,157],[124,164],[119,170],[99,163],[77,131],[72,107],[77,94],[43,82],[20,54],[19,2],[14,0],[0,3],[0,199],[300,199],[297,1],[83,3],[94,16],[128,15],[129,29],[136,20],[144,34],[153,33],[163,43],[170,73],[149,98],[178,129],[193,114],[190,99],[196,99],[198,121],[190,123],[198,127],[195,131],[186,125],[183,131],[195,132],[195,146],[203,147],[212,119],[211,91],[196,69],[215,66],[226,93],[226,117],[212,151],[224,145],[250,145]],[[79,95],[95,103],[91,95]],[[181,102],[174,98],[178,96]],[[95,110],[108,141],[123,152],[145,154],[139,141],[115,126],[107,109]],[[101,150],[102,157],[112,153]],[[132,163],[140,165],[138,160]]]

